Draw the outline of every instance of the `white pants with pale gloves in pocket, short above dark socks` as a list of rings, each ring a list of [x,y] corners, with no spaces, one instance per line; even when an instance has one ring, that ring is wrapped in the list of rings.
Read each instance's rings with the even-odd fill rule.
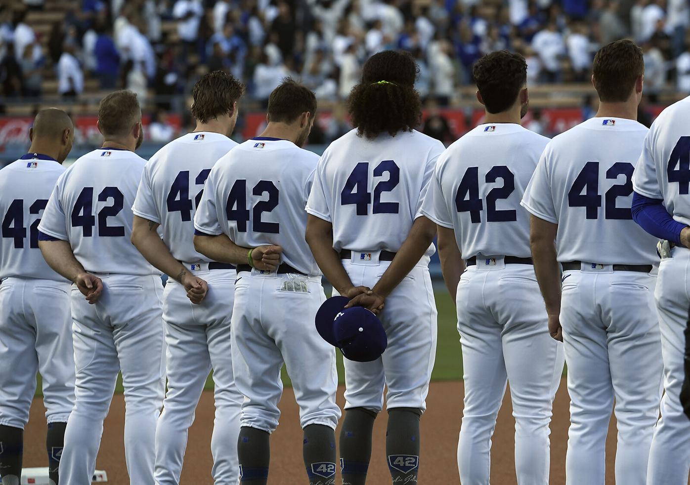
[[[305,287],[305,293],[295,291]],[[278,426],[283,362],[302,428],[337,426],[335,347],[321,338],[314,323],[325,299],[320,276],[262,274],[256,269],[237,274],[232,348],[235,382],[244,395],[241,426],[268,433]]]

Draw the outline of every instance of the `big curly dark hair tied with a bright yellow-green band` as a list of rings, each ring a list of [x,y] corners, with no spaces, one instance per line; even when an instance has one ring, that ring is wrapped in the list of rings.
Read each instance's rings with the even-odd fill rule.
[[[395,137],[420,124],[417,72],[415,59],[408,52],[384,50],[364,63],[362,82],[352,88],[348,98],[348,112],[358,136],[373,139],[387,132]]]

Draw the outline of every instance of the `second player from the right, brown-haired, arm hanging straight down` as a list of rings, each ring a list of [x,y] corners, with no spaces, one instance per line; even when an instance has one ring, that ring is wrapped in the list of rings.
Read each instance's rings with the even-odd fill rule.
[[[659,416],[661,342],[650,275],[658,258],[655,239],[631,216],[631,177],[647,133],[635,121],[643,77],[642,50],[632,41],[597,52],[597,115],[546,146],[522,199],[549,332],[564,342],[568,364],[569,485],[604,484],[614,399],[615,482],[644,484]]]

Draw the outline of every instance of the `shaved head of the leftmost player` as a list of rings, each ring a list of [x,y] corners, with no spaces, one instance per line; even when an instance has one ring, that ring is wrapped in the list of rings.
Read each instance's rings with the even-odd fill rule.
[[[29,128],[31,152],[49,155],[62,163],[72,150],[75,139],[75,125],[63,110],[48,108],[40,110]]]

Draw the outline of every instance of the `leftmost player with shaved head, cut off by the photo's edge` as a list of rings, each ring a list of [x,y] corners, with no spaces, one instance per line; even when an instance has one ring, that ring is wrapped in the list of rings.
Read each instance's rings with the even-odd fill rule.
[[[29,129],[31,146],[0,170],[0,478],[21,479],[23,429],[43,377],[48,419],[48,477],[57,484],[67,419],[75,401],[70,283],[51,270],[38,248],[37,226],[75,128],[66,112],[41,110]]]

